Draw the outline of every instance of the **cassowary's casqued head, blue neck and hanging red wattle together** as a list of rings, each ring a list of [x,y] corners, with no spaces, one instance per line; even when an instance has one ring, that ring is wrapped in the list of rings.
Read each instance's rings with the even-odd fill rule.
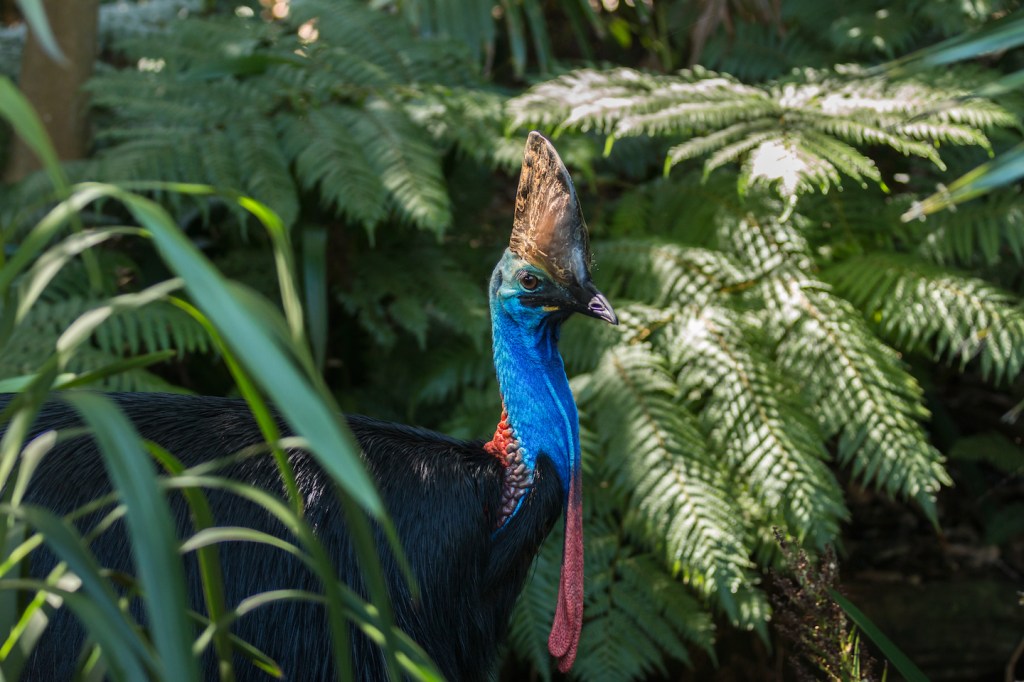
[[[509,472],[501,527],[520,513],[535,485],[538,458],[549,460],[558,473],[565,545],[548,648],[562,672],[572,667],[583,626],[583,492],[580,422],[558,353],[558,333],[573,312],[618,324],[591,281],[590,264],[587,223],[572,179],[551,142],[532,132],[512,239],[490,282],[495,369],[505,413],[486,450]]]

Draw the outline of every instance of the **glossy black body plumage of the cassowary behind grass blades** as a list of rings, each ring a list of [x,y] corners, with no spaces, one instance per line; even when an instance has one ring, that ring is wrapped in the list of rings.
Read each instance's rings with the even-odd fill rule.
[[[143,437],[174,453],[186,466],[262,442],[242,400],[152,393],[113,397]],[[486,679],[530,562],[561,512],[557,477],[550,464],[542,463],[522,513],[495,534],[503,467],[483,450],[482,442],[456,440],[365,417],[349,417],[348,422],[366,453],[367,466],[378,481],[421,588],[419,600],[409,599],[397,568],[385,557],[384,572],[394,596],[398,626],[424,647],[447,679]],[[52,400],[36,420],[34,432],[78,424],[71,408]],[[282,428],[286,428],[284,424]],[[310,525],[329,548],[340,579],[357,589],[359,570],[330,478],[305,453],[294,451],[289,457]],[[282,491],[280,474],[268,455],[244,460],[221,473]],[[86,436],[48,454],[33,480],[27,502],[58,513],[109,489],[102,460]],[[287,537],[259,507],[216,491],[208,496],[218,524],[244,525]],[[180,495],[171,495],[170,502],[179,531],[186,537],[191,532],[187,507]],[[89,523],[90,519],[83,521]],[[424,532],[425,527],[431,531]],[[126,545],[119,522],[96,540],[93,550],[102,565],[131,572]],[[33,573],[44,574],[53,561],[48,552],[37,551],[32,559]],[[280,550],[231,543],[221,546],[221,561],[224,574],[229,577],[225,581],[228,604],[266,590],[318,591],[315,577]],[[197,569],[194,560],[187,561],[193,606],[202,610]],[[336,679],[321,606],[273,604],[244,617],[233,631],[278,660],[287,679]],[[75,666],[71,653],[79,650],[82,638],[77,622],[59,612],[34,652],[25,679],[70,679]],[[354,629],[352,644],[356,679],[384,679],[376,645]],[[249,662],[236,658],[239,679],[267,679]],[[205,673],[207,679],[216,679],[212,657],[206,660]]]

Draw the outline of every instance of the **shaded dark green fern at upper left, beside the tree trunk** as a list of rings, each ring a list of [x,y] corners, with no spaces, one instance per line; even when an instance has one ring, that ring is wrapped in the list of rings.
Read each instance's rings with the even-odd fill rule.
[[[450,105],[493,112],[468,89],[457,47],[410,37],[361,4],[303,0],[281,22],[185,19],[160,41],[124,40],[136,68],[91,82],[100,151],[78,175],[208,182],[266,203],[287,225],[308,194],[371,232],[393,216],[440,233],[452,222],[442,155],[463,136],[434,135],[420,119]]]

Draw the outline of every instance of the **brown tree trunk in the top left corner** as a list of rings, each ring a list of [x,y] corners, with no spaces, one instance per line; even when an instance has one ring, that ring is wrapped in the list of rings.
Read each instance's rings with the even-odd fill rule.
[[[96,58],[99,0],[44,0],[46,16],[67,58],[54,61],[29,31],[18,86],[43,120],[60,159],[81,159],[88,148],[87,100],[82,85]],[[11,145],[4,179],[39,170],[40,163],[20,140]]]

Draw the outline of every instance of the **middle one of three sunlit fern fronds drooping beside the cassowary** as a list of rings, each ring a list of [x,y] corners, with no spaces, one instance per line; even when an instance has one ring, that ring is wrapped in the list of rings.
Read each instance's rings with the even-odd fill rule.
[[[680,391],[703,404],[711,446],[746,481],[765,520],[823,546],[847,516],[843,494],[807,406],[752,344],[756,324],[713,307],[683,316],[669,342],[679,353]]]

